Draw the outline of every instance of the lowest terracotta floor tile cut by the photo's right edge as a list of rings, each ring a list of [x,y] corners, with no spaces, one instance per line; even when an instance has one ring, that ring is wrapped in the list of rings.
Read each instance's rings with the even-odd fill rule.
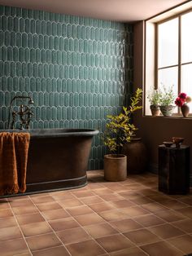
[[[168,243],[174,245],[177,249],[180,249],[185,254],[191,254],[192,252],[192,236],[185,235],[172,238],[168,240]]]

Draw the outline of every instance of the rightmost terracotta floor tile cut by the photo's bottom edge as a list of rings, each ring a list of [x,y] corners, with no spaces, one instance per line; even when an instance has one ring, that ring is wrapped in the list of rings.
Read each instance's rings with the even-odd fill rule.
[[[160,241],[150,245],[143,245],[141,248],[150,256],[183,256],[181,251],[172,245],[169,245],[165,241]]]

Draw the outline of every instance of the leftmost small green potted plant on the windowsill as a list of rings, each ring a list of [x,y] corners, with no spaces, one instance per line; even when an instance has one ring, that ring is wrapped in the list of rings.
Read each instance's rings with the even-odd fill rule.
[[[158,117],[160,114],[160,91],[159,89],[151,89],[147,95],[147,99],[150,102],[150,109],[153,117]]]

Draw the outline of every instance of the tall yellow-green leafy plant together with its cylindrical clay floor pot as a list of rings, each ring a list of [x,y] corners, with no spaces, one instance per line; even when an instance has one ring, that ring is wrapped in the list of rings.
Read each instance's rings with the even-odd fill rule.
[[[142,90],[137,89],[135,96],[131,98],[129,108],[123,107],[123,112],[116,116],[108,115],[104,132],[104,144],[110,150],[111,154],[104,156],[104,178],[109,181],[121,181],[127,177],[127,157],[121,154],[124,143],[129,143],[137,128],[131,121],[132,114],[141,109],[138,106],[142,99]]]

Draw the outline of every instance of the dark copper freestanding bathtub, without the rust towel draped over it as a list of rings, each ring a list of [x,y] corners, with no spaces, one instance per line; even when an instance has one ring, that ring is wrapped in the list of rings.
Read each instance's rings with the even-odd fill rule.
[[[31,139],[26,192],[85,186],[91,143],[98,130],[59,128],[28,132]]]

